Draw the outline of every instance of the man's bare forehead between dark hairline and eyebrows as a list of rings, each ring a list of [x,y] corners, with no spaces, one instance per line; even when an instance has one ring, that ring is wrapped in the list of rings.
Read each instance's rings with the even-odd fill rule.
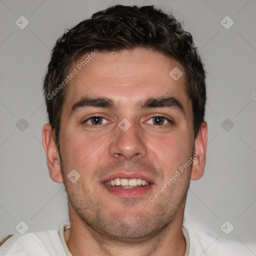
[[[182,102],[185,111],[191,108],[178,61],[145,48],[88,55],[90,58],[81,57],[69,69],[77,73],[67,85],[63,110],[85,96],[111,98],[119,109],[132,109],[149,97],[172,96]],[[177,80],[169,74],[173,68],[183,73]]]

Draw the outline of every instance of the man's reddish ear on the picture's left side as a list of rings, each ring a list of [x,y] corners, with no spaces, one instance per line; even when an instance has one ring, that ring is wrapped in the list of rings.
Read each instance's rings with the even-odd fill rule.
[[[59,154],[54,141],[54,129],[49,123],[46,123],[42,128],[42,144],[46,154],[50,178],[55,182],[62,183]]]

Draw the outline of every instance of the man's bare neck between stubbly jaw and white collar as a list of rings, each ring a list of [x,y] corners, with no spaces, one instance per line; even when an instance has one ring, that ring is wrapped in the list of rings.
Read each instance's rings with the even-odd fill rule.
[[[70,206],[70,205],[69,205]],[[182,235],[184,205],[180,207],[176,218],[155,236],[140,243],[124,243],[97,232],[84,223],[69,207],[71,222],[70,235],[65,240],[73,256],[123,256],[130,255],[175,255],[184,256],[186,243]]]

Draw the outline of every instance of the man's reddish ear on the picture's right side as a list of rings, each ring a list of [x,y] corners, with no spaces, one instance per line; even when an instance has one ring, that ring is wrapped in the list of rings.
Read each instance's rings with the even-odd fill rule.
[[[207,123],[202,122],[197,137],[194,140],[194,157],[191,179],[197,180],[203,175],[206,161]]]

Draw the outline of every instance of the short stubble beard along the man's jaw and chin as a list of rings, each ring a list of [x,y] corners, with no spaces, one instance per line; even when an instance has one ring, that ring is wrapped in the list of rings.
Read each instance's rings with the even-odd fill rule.
[[[177,179],[154,202],[149,200],[141,202],[139,198],[119,198],[119,205],[121,203],[124,208],[139,209],[135,214],[119,214],[120,211],[114,209],[113,205],[104,205],[104,202],[100,202],[97,195],[92,194],[85,187],[82,178],[75,183],[67,180],[66,174],[63,175],[67,173],[63,164],[61,164],[61,173],[69,207],[72,207],[72,211],[93,236],[136,244],[151,239],[157,234],[163,234],[164,230],[178,218],[178,214],[182,214],[183,218],[190,179]]]

